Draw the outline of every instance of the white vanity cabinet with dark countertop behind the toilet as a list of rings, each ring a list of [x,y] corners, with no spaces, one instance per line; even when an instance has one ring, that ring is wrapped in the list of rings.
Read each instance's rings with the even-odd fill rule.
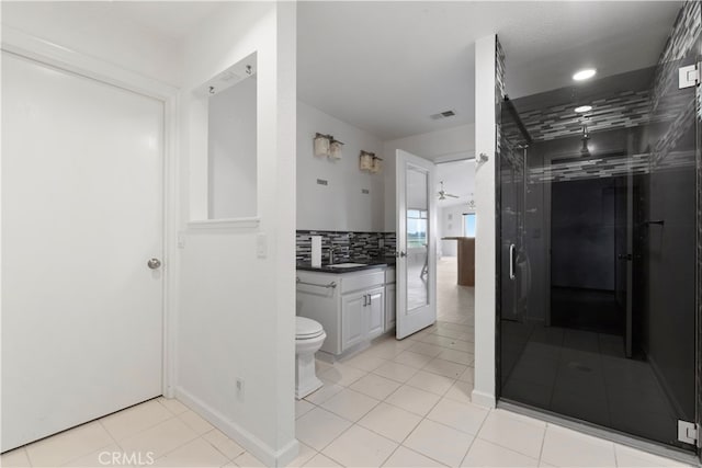
[[[386,331],[385,266],[350,273],[297,271],[297,315],[321,323],[321,351],[340,355]]]

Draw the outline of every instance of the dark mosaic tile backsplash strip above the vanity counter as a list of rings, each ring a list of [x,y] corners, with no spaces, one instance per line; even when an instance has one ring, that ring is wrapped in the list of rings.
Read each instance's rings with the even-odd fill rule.
[[[395,232],[348,232],[298,230],[295,236],[297,262],[312,261],[312,236],[321,236],[321,260],[329,261],[329,248],[337,248],[338,260],[362,260],[394,255]]]

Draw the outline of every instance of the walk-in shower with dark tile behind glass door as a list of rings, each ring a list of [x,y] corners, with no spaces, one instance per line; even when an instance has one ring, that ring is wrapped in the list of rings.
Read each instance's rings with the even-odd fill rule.
[[[500,401],[688,452],[700,22],[686,3],[655,66],[506,99],[497,194]]]

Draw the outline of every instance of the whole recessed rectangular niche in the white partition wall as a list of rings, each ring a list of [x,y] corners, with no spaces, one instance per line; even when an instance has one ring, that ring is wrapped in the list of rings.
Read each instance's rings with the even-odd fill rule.
[[[258,216],[256,53],[196,91],[206,118],[207,219]]]

